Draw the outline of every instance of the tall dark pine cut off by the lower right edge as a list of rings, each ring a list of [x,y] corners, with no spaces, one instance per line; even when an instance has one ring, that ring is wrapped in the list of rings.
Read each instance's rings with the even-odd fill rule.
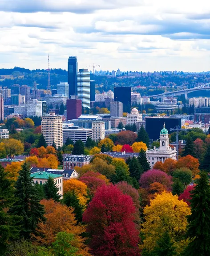
[[[186,248],[186,256],[210,255],[210,185],[206,172],[199,172],[197,185],[190,192],[191,215],[187,216],[186,236],[190,243]]]

